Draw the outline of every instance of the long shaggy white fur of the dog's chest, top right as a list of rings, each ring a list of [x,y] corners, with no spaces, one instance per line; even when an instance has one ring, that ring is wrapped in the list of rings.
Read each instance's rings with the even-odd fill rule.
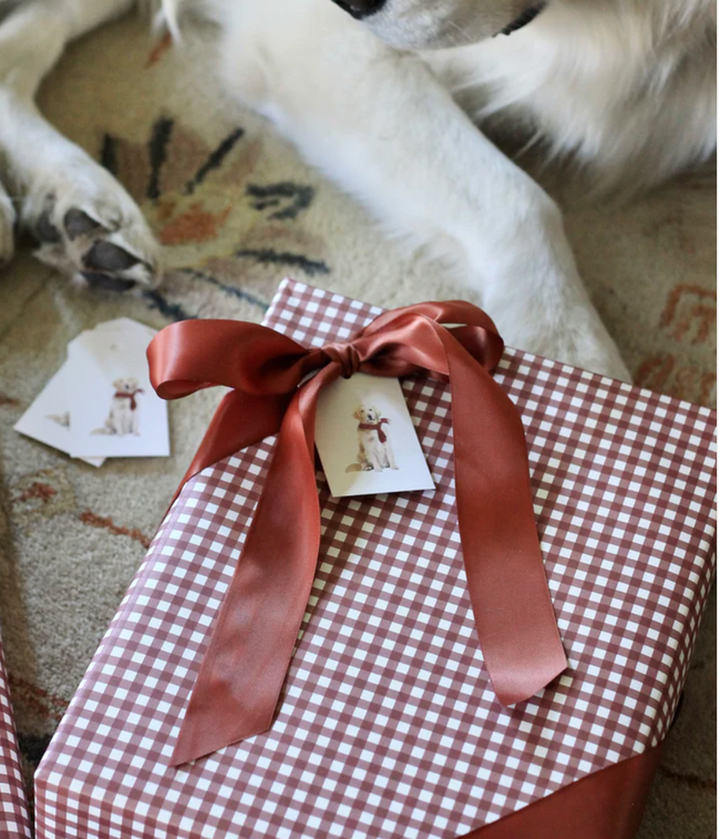
[[[510,38],[434,58],[481,123],[528,123],[604,188],[639,191],[717,142],[716,7],[555,0]]]

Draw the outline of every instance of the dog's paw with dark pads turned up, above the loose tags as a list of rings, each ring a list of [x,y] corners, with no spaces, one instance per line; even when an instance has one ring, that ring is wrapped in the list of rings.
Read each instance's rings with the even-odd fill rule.
[[[157,285],[160,250],[140,208],[90,157],[35,181],[22,222],[40,243],[37,257],[79,285],[113,291]]]

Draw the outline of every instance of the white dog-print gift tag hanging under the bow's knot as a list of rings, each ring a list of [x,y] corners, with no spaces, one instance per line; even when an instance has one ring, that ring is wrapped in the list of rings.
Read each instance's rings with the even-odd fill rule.
[[[315,433],[335,498],[435,488],[398,379],[338,379],[320,393]]]

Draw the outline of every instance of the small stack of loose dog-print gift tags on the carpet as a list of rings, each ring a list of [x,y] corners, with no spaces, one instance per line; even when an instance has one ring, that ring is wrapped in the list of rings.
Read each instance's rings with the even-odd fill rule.
[[[147,369],[154,336],[130,318],[79,335],[16,431],[94,467],[105,458],[168,457],[167,403]]]

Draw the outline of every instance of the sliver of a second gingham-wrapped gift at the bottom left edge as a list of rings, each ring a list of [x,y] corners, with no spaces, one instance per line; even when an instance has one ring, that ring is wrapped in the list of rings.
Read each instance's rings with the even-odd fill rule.
[[[31,836],[8,673],[0,640],[0,837],[30,839]]]

